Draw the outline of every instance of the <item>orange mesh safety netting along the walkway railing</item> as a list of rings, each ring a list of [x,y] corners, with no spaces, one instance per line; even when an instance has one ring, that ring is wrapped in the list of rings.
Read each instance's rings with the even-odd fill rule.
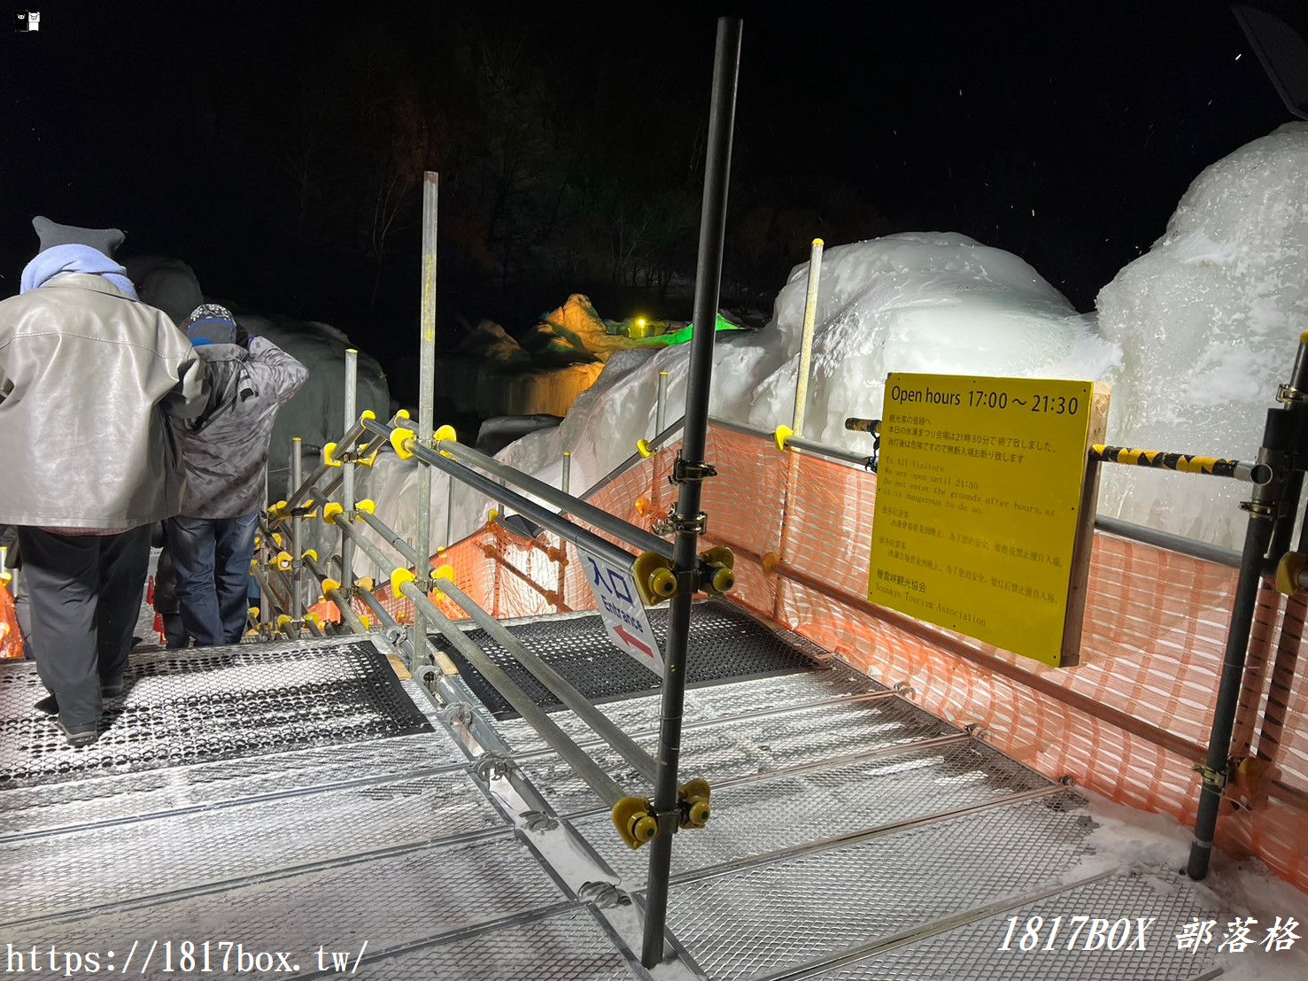
[[[667,447],[634,464],[591,501],[649,527],[674,501],[674,458]],[[1193,823],[1233,569],[1096,532],[1082,659],[1052,668],[867,603],[874,475],[722,428],[706,458],[719,473],[705,484],[706,539],[735,552],[735,602],[883,683],[909,683],[925,708],[980,723],[1050,777]],[[453,565],[497,617],[594,608],[579,564],[561,557],[492,525],[433,565]],[[407,623],[412,604],[381,595]],[[1228,793],[1218,844],[1308,888],[1308,680],[1295,670],[1304,608],[1291,602],[1278,627],[1279,600],[1267,587],[1260,596],[1233,748],[1252,761]]]

